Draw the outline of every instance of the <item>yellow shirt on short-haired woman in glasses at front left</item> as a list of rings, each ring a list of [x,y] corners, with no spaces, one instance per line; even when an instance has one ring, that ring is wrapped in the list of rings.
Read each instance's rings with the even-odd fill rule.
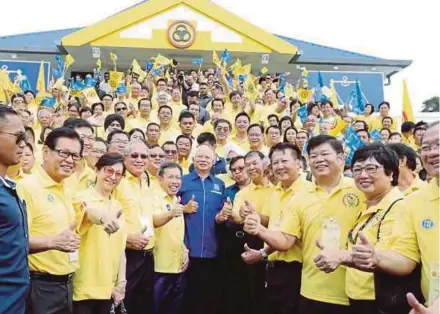
[[[94,187],[77,194],[73,205],[76,212],[95,208],[117,213],[122,208],[121,203],[105,199]],[[80,269],[73,278],[73,300],[108,300],[116,286],[121,255],[125,252],[127,231],[123,218],[120,218],[120,229],[111,236],[102,226],[91,224],[86,219],[79,227],[79,234]]]

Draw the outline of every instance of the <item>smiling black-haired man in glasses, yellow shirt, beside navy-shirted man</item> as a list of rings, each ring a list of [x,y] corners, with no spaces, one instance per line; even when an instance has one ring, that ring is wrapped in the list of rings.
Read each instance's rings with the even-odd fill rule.
[[[30,313],[71,313],[72,278],[79,267],[80,237],[65,179],[82,158],[82,141],[70,128],[53,130],[43,146],[43,164],[20,181],[29,225]]]

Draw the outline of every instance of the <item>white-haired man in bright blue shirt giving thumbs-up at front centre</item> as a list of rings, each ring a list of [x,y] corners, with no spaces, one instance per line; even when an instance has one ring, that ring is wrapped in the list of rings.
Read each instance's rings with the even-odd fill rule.
[[[185,313],[208,314],[218,299],[217,223],[224,222],[225,184],[210,171],[215,154],[201,145],[194,155],[194,171],[184,176],[179,192],[185,205],[185,245],[189,250],[186,271]]]

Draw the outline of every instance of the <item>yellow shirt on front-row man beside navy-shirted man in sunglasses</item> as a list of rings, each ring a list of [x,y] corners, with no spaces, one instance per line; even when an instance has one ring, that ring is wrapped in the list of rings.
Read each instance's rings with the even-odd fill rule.
[[[21,180],[17,191],[26,202],[30,237],[57,236],[75,221],[72,199],[63,183],[53,181],[43,168]],[[67,275],[78,267],[78,261],[69,261],[68,253],[56,250],[29,255],[31,271]]]

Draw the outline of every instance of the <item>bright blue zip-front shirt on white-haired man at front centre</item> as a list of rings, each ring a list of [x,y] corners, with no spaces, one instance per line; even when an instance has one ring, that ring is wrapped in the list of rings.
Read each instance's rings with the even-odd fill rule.
[[[189,256],[216,258],[218,239],[215,216],[223,208],[225,184],[210,174],[204,180],[196,171],[182,178],[179,192],[181,203],[186,204],[194,195],[199,209],[194,214],[185,214],[185,245]]]

